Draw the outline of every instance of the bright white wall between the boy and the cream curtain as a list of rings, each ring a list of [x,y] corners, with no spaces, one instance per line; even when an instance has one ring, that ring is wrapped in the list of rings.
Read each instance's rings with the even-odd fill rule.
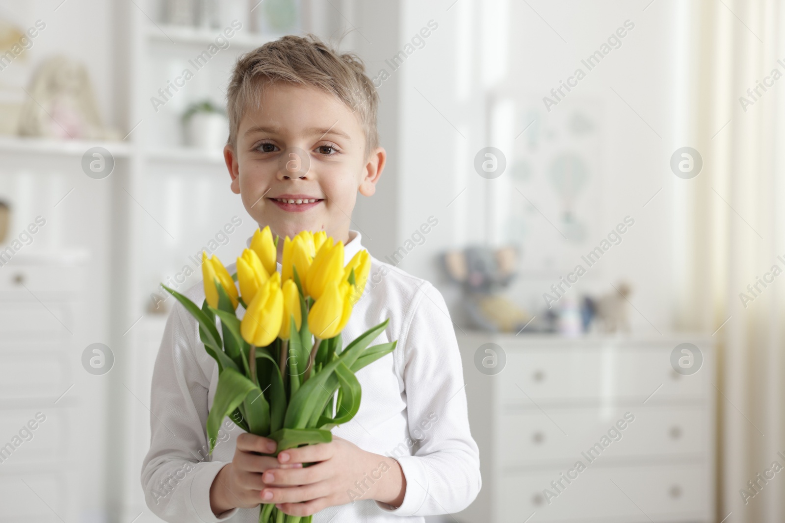
[[[504,242],[502,226],[487,223],[486,216],[503,220],[505,209],[509,212],[520,206],[525,227],[522,273],[509,296],[536,313],[545,307],[542,293],[566,275],[562,267],[581,263],[580,255],[597,246],[629,215],[635,224],[623,235],[622,243],[609,249],[570,293],[577,298],[582,292],[615,292],[611,284],[629,281],[633,287],[630,300],[640,311],[630,310],[633,328],[665,332],[671,323],[667,285],[671,194],[674,183],[681,181],[670,172],[669,161],[672,151],[687,145],[674,143],[669,120],[674,42],[666,35],[674,34],[674,7],[665,2],[645,11],[645,5],[628,2],[529,2],[531,7],[502,1],[451,4],[424,7],[411,2],[403,9],[401,46],[431,18],[438,21],[439,29],[399,70],[400,139],[397,150],[389,151],[400,162],[395,172],[400,183],[396,247],[427,216],[439,216],[440,224],[400,267],[440,283],[455,303],[455,289],[444,285],[436,266],[437,254],[466,242]],[[469,24],[462,26],[462,16],[468,16]],[[605,56],[564,101],[547,112],[542,97],[550,96],[550,89],[576,67],[587,71],[580,60],[598,49],[625,20],[635,25],[621,40],[621,47]],[[483,45],[477,45],[480,40]],[[462,101],[458,85],[459,71],[466,71],[463,67],[469,71],[469,98]],[[485,111],[484,85],[498,101],[496,117],[492,112],[497,106]],[[510,108],[516,113],[513,116],[508,114]],[[516,139],[531,122],[530,108],[536,111],[537,122]],[[598,118],[597,136],[590,145],[596,154],[583,151],[590,159],[594,184],[577,198],[577,207],[586,216],[586,239],[568,243],[542,216],[552,223],[558,223],[560,216],[546,169],[558,152],[585,146],[579,140],[555,140],[557,145],[549,150],[545,136],[549,129],[559,133],[575,109],[589,109]],[[488,125],[484,125],[486,112]],[[535,167],[525,180],[516,178],[511,164],[526,154],[526,142],[538,126],[541,152],[528,156]],[[513,138],[499,129],[509,129]],[[502,148],[508,159],[508,171],[496,180],[484,180],[473,169],[474,154],[487,145]],[[468,189],[445,209],[464,187]],[[486,225],[491,233],[497,232],[488,234]]]

